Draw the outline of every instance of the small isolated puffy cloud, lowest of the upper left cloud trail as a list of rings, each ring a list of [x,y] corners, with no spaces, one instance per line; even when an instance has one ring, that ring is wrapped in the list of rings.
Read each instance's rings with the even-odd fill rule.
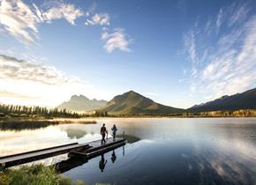
[[[105,41],[104,48],[111,53],[114,49],[118,48],[122,51],[130,52],[129,45],[132,43],[124,33],[124,29],[117,28],[113,33],[103,32],[102,40]]]

